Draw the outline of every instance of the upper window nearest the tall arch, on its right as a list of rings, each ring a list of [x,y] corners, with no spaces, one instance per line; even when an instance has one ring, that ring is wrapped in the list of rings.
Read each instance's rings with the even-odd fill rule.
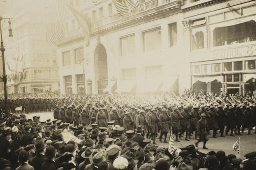
[[[121,56],[135,53],[135,35],[120,38]]]

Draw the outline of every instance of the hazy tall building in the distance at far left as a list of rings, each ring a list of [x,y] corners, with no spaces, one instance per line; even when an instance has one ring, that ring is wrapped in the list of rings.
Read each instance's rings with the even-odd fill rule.
[[[13,37],[3,23],[8,93],[59,91],[57,48],[45,42],[53,10],[51,0],[7,1],[3,17],[13,18]]]

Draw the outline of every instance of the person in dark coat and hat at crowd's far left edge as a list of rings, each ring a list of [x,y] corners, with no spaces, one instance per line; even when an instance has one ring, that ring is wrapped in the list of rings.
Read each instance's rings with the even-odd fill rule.
[[[12,140],[12,130],[5,128],[5,138],[0,144],[0,157],[9,160],[12,164],[14,163],[14,144]]]

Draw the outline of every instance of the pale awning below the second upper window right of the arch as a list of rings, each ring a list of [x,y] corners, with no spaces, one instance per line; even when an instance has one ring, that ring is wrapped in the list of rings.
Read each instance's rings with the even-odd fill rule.
[[[159,80],[147,80],[145,79],[144,85],[139,92],[155,92],[158,91],[162,85],[162,81]]]

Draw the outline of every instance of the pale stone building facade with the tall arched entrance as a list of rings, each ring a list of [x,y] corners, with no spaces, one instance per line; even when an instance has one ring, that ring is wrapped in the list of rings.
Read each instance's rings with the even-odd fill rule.
[[[71,1],[91,18],[90,44],[72,14],[57,44],[61,93],[83,93],[84,88],[88,94],[179,93],[190,88],[185,74],[190,64],[182,64],[182,1],[146,0],[141,11],[125,17],[112,0],[88,3]]]

